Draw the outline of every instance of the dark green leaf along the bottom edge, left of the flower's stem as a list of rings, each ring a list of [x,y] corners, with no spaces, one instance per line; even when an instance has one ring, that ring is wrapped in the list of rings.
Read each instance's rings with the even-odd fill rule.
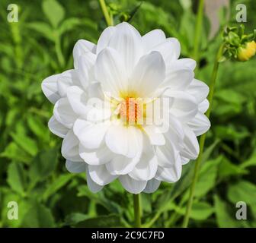
[[[103,227],[122,227],[123,223],[120,216],[117,215],[106,215],[98,216],[91,219],[85,219],[82,222],[78,222],[75,226],[77,228],[103,228]]]

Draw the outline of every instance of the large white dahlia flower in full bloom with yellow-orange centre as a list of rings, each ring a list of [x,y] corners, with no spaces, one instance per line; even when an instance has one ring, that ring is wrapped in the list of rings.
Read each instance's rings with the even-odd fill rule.
[[[152,193],[197,158],[197,136],[210,128],[209,88],[180,52],[162,30],[141,36],[123,22],[107,27],[97,45],[78,40],[75,68],[43,80],[66,168],[86,172],[91,191],[118,178],[133,194]]]

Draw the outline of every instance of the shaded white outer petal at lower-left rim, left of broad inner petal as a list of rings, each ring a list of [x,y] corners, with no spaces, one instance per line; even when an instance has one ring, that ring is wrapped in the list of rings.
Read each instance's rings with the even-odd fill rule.
[[[66,134],[66,137],[62,141],[61,153],[62,156],[71,161],[83,161],[79,156],[78,139],[72,130]]]

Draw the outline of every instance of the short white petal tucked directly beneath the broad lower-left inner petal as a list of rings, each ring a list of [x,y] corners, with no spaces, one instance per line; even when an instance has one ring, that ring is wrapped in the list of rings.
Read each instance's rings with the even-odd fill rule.
[[[97,150],[88,150],[82,144],[79,144],[79,155],[91,166],[100,166],[113,159],[114,154],[104,145]]]

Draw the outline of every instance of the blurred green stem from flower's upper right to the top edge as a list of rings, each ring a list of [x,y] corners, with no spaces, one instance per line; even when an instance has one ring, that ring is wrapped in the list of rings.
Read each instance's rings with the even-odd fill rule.
[[[198,51],[199,51],[199,44],[200,44],[200,37],[202,33],[202,22],[203,22],[203,5],[204,0],[200,0],[197,10],[197,22],[196,22],[196,30],[194,35],[194,59],[198,61]]]

